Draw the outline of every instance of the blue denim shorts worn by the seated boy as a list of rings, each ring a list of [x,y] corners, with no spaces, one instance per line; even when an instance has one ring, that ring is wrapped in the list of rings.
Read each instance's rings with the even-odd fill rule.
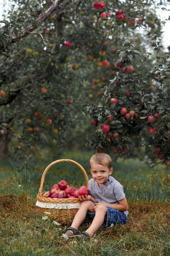
[[[112,207],[105,206],[107,208],[107,220],[104,220],[101,227],[110,227],[111,224],[126,224],[127,216],[124,212],[120,212]],[[95,213],[87,212],[87,217],[94,219]]]

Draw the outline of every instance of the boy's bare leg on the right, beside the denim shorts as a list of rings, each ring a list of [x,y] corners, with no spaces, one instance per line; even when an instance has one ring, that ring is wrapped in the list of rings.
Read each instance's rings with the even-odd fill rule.
[[[104,205],[100,205],[96,208],[96,215],[91,223],[91,226],[86,230],[89,236],[93,236],[96,230],[103,224],[107,208]]]

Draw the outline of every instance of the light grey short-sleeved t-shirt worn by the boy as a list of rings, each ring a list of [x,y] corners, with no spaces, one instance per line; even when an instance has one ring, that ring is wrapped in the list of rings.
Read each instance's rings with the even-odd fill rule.
[[[123,186],[111,176],[109,176],[108,181],[102,187],[99,187],[94,179],[89,180],[88,189],[90,195],[94,197],[98,203],[119,204],[119,201],[125,198]],[[124,213],[126,216],[128,215],[128,211]]]

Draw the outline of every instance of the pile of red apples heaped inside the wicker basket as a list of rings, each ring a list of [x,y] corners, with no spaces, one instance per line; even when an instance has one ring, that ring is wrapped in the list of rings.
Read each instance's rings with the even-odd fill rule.
[[[45,198],[78,198],[82,195],[89,195],[87,186],[81,186],[79,189],[75,189],[73,186],[68,186],[65,180],[59,181],[58,184],[52,186],[50,191],[44,191],[42,196]]]

